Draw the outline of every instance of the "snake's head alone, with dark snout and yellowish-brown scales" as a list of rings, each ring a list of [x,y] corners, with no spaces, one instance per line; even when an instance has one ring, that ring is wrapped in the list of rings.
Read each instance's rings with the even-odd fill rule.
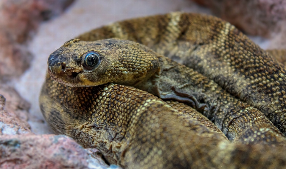
[[[48,59],[52,79],[71,87],[105,83],[133,85],[160,71],[156,53],[136,42],[72,39]]]

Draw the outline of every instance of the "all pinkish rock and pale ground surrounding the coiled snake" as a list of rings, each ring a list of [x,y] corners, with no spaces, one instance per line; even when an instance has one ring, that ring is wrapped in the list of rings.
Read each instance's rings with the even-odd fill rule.
[[[0,0],[0,168],[108,168],[96,150],[53,135],[38,106],[47,58],[67,40],[114,21],[185,11],[221,17],[263,49],[285,48],[285,7],[285,0]]]

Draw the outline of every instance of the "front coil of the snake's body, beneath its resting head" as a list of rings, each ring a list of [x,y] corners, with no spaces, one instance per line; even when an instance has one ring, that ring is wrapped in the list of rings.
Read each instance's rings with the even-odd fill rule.
[[[285,146],[230,143],[181,106],[133,87],[69,87],[47,75],[39,99],[55,133],[126,169],[286,168]]]

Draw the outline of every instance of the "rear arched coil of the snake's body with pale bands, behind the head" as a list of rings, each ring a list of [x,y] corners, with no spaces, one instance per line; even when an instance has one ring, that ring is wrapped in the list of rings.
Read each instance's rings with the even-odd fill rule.
[[[193,68],[261,110],[286,135],[285,66],[229,22],[173,12],[115,22],[76,37],[108,38],[139,42]]]

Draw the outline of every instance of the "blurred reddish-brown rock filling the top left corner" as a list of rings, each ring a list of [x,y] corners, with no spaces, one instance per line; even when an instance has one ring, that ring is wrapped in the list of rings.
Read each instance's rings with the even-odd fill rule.
[[[25,42],[39,23],[74,0],[0,0],[0,78],[21,75],[32,60]]]

